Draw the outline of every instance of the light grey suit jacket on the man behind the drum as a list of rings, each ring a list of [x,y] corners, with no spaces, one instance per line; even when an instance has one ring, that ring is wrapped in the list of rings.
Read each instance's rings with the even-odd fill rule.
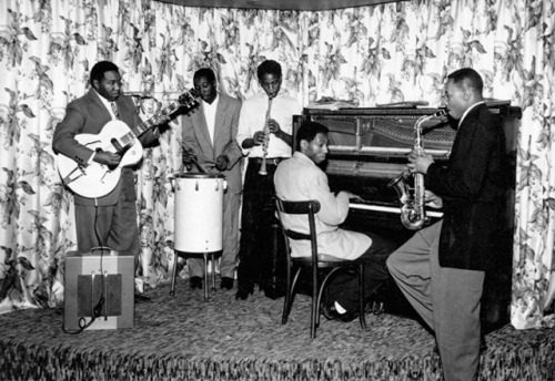
[[[218,109],[215,112],[214,143],[210,140],[210,134],[204,116],[204,106],[201,106],[183,115],[183,144],[188,150],[193,150],[199,164],[210,167],[220,155],[228,155],[230,164],[228,169],[222,172],[228,182],[228,192],[241,193],[241,165],[243,153],[235,138],[238,136],[239,114],[241,102],[229,95],[219,94]],[[218,173],[218,169],[209,169]]]

